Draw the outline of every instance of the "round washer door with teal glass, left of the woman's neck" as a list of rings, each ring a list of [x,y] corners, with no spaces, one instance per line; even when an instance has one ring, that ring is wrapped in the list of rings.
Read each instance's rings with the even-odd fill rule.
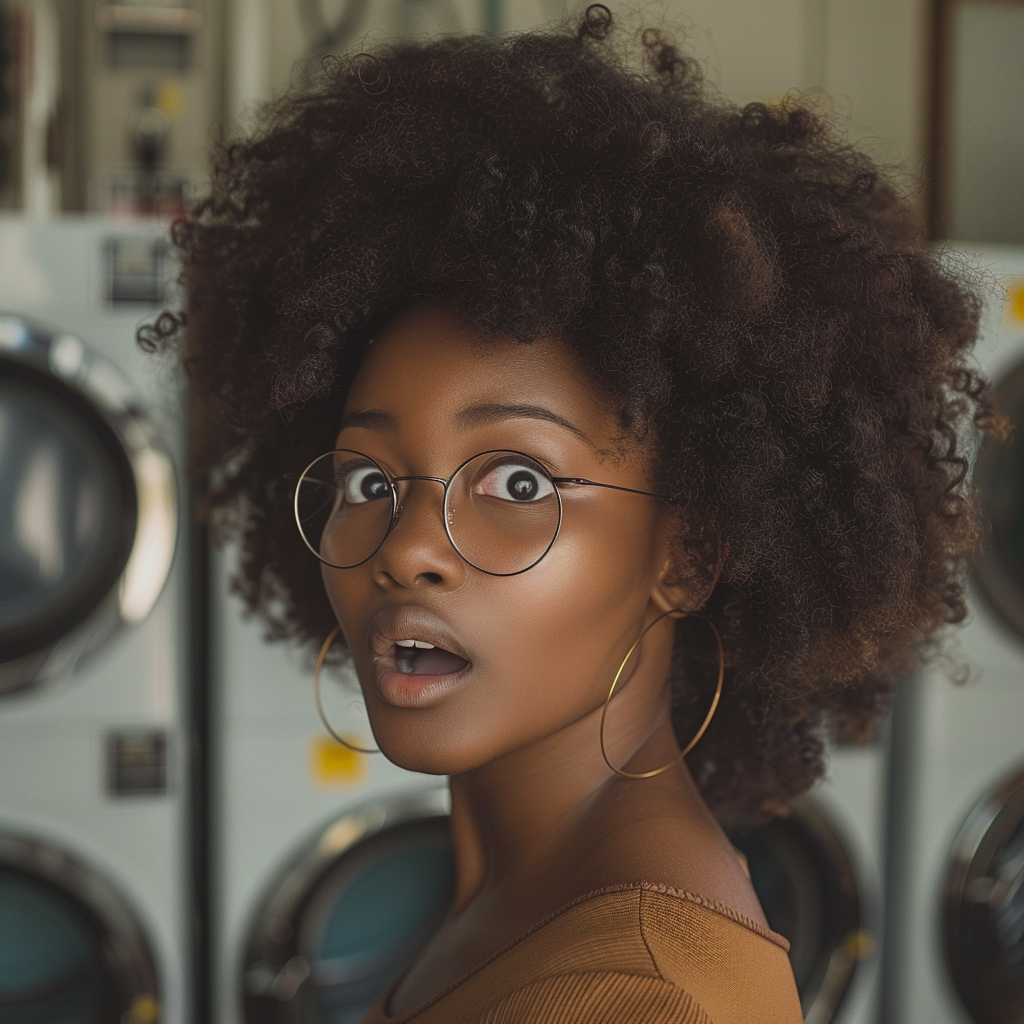
[[[340,852],[290,910],[257,926],[246,1021],[357,1024],[440,926],[454,891],[445,816],[399,822]]]

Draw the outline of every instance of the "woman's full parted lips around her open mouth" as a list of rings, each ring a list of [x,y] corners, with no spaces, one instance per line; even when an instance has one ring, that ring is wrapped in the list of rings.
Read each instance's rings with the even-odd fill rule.
[[[445,676],[398,672],[394,645],[398,640],[426,640],[469,664]],[[374,655],[374,683],[381,699],[394,708],[429,708],[459,689],[473,671],[473,657],[452,628],[433,612],[416,605],[381,608],[370,621],[370,649]]]

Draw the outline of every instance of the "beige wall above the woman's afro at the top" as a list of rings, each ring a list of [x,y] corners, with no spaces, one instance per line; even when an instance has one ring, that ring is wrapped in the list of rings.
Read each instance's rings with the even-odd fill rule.
[[[276,95],[307,49],[300,4],[317,0],[233,0],[229,12],[228,111]],[[318,0],[336,22],[339,0]],[[489,0],[494,3],[495,0]],[[360,48],[402,31],[481,31],[488,0],[369,0]],[[613,9],[637,9],[610,3]],[[572,4],[570,9],[584,5]],[[682,26],[709,78],[737,100],[777,99],[790,89],[814,94],[851,137],[885,163],[921,173],[924,157],[927,0],[669,0],[643,4],[644,18]],[[412,16],[410,15],[412,11]],[[505,31],[562,13],[561,0],[505,0]],[[912,187],[912,185],[911,185]]]

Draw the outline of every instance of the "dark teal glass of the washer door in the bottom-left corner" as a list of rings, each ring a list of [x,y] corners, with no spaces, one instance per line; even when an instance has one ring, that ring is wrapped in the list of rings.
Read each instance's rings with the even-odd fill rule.
[[[0,1022],[108,1024],[111,985],[89,915],[48,883],[0,870]]]

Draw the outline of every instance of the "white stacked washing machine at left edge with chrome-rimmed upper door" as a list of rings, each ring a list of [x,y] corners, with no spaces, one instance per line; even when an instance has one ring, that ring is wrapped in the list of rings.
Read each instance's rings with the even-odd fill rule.
[[[159,223],[0,219],[0,1020],[189,1019],[181,418]]]

